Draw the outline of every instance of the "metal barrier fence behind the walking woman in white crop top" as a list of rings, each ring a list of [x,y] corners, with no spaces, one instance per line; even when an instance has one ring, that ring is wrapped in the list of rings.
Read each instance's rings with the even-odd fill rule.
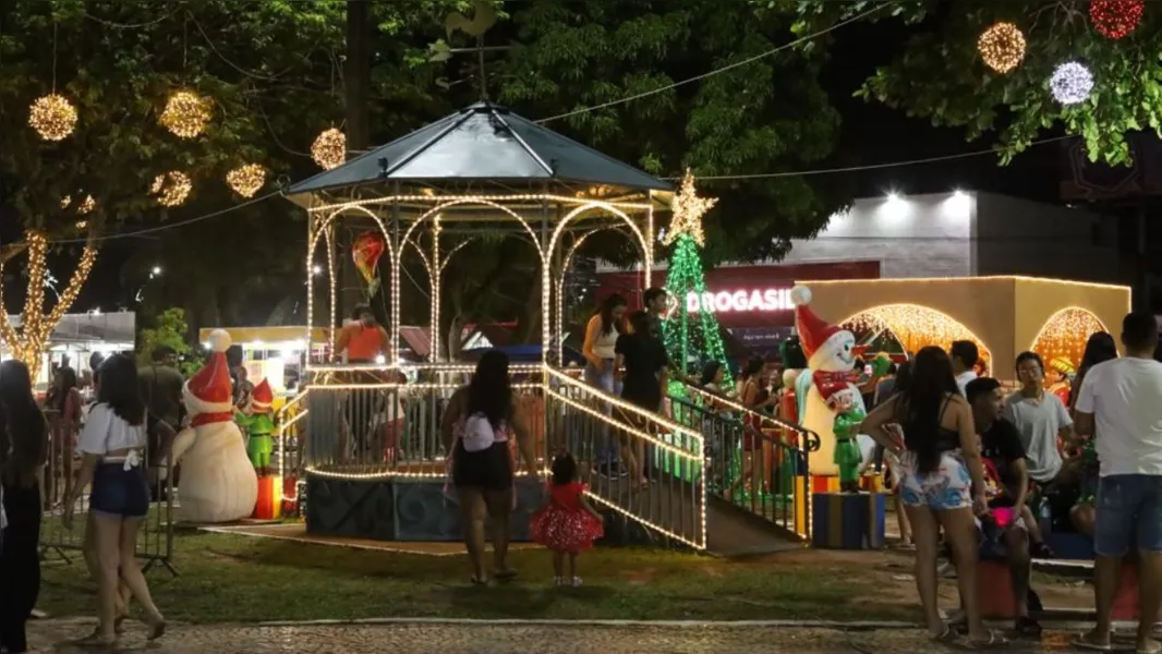
[[[41,479],[41,502],[44,519],[41,523],[41,559],[71,562],[71,553],[85,548],[88,520],[88,490],[80,494],[73,506],[73,529],[66,530],[60,522],[64,503],[80,472],[80,458],[76,453],[78,425],[63,424],[59,412],[44,412],[49,424],[49,460]],[[163,566],[172,574],[173,567],[173,468],[168,458],[153,461],[151,448],[145,448],[145,461],[156,463],[146,467],[150,477],[149,515],[137,534],[137,558],[144,561],[143,569]]]

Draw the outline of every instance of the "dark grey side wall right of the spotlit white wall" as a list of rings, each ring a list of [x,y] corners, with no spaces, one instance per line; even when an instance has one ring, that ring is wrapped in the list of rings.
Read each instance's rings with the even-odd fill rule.
[[[976,194],[978,275],[1118,282],[1118,223],[1084,209]]]

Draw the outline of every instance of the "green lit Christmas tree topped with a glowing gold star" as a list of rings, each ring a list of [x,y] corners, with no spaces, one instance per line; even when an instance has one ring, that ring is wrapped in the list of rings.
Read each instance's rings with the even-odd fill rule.
[[[666,317],[662,331],[670,361],[676,364],[682,375],[701,374],[706,362],[718,361],[726,372],[726,388],[733,389],[726,348],[715,318],[712,300],[709,300],[702,256],[698,253],[705,244],[702,216],[718,200],[713,197],[698,197],[694,189],[694,175],[687,170],[674,196],[669,231],[662,239],[662,244],[674,246],[666,272],[666,293],[674,308]]]

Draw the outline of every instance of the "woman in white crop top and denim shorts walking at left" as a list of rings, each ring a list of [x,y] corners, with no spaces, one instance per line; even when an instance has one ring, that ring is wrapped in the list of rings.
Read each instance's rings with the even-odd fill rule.
[[[81,490],[92,483],[89,513],[96,526],[98,606],[100,625],[84,645],[109,646],[116,641],[119,581],[145,609],[149,639],[165,632],[165,618],[153,604],[149,585],[137,565],[137,532],[149,513],[145,460],[145,404],[137,390],[137,365],[125,354],[101,366],[98,402],[89,411],[77,451],[84,455],[80,475],[65,502],[62,520],[72,529],[73,510]]]

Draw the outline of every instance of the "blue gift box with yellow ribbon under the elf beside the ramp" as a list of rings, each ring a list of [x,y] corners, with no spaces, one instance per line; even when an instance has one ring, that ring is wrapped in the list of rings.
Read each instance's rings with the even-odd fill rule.
[[[811,545],[825,549],[883,547],[887,496],[816,493],[811,496]]]

